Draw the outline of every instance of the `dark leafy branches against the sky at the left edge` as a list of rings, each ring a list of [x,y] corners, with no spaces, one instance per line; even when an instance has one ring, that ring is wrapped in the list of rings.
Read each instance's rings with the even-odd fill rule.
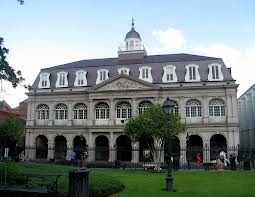
[[[3,46],[4,39],[0,37],[0,80],[6,80],[12,83],[12,86],[15,88],[18,84],[24,81],[21,71],[15,70],[9,65],[6,61],[6,55],[9,53],[9,50]]]

